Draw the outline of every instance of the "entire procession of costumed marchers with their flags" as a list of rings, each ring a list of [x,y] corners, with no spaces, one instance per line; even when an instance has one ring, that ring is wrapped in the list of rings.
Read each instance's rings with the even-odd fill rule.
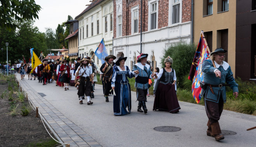
[[[103,39],[102,39],[103,40]],[[206,115],[208,117],[206,135],[214,137],[215,140],[222,140],[220,130],[220,116],[223,111],[223,104],[226,102],[226,88],[230,86],[234,92],[235,98],[238,96],[238,84],[235,82],[231,68],[224,61],[225,50],[217,48],[212,53],[209,52],[203,33],[197,46],[197,51],[191,66],[189,79],[193,82],[192,94],[197,103],[201,97],[204,97]],[[99,49],[99,50],[98,50]],[[131,86],[136,89],[137,112],[147,114],[149,109],[154,111],[167,111],[169,113],[179,113],[181,107],[177,98],[177,77],[179,73],[175,72],[172,65],[175,61],[171,56],[164,58],[164,67],[153,68],[148,63],[146,53],[139,53],[137,63],[130,70],[126,66],[127,57],[108,55],[106,53],[104,42],[101,41],[95,54],[102,62],[100,68],[95,65],[91,57],[78,57],[76,60],[68,61],[59,58],[54,62],[43,59],[35,55],[31,49],[31,63],[19,65],[18,72],[21,79],[28,74],[28,79],[38,79],[42,85],[47,85],[55,81],[55,85],[62,87],[63,91],[76,89],[78,95],[78,104],[83,104],[87,99],[87,105],[93,103],[93,98],[104,99],[110,102],[110,96],[113,96],[113,115],[128,115],[132,113],[131,104]],[[116,60],[116,62],[114,62]],[[95,83],[102,83],[102,96],[94,96]],[[30,76],[30,77],[29,77]],[[135,84],[130,85],[129,80],[134,78]],[[149,87],[154,84],[154,105],[153,108],[147,107],[147,96],[149,96]],[[101,91],[101,89],[97,89]]]

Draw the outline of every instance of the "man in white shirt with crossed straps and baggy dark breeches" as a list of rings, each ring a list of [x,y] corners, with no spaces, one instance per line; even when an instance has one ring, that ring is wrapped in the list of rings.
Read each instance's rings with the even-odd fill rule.
[[[90,101],[91,96],[91,87],[93,84],[92,77],[92,66],[90,66],[90,60],[87,58],[83,58],[80,63],[81,65],[77,68],[76,75],[80,76],[80,85],[78,88],[78,97],[80,98],[79,103],[83,104],[84,95],[87,97],[87,105],[93,104]]]

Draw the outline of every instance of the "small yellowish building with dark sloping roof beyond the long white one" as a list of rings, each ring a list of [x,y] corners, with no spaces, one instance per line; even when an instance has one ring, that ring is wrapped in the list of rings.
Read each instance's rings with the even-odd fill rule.
[[[69,35],[65,38],[68,39],[68,54],[70,59],[78,57],[78,21],[70,20],[66,24],[69,24]]]

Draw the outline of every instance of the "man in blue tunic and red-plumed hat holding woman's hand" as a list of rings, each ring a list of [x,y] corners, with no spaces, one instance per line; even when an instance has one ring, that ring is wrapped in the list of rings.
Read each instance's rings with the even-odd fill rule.
[[[147,113],[147,107],[145,101],[147,101],[147,89],[149,88],[149,79],[156,76],[156,73],[152,73],[150,70],[150,65],[147,64],[148,54],[141,53],[137,56],[137,62],[133,65],[132,71],[139,71],[135,74],[135,87],[137,89],[137,100],[138,100],[138,112]],[[156,77],[157,78],[157,77]]]

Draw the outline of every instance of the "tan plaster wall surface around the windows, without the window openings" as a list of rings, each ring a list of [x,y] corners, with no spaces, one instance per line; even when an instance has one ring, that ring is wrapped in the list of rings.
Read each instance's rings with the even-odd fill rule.
[[[221,0],[213,0],[213,14],[203,17],[203,3],[206,0],[194,0],[194,43],[198,44],[201,31],[213,31],[213,51],[221,47],[217,44],[217,30],[228,29],[228,64],[235,76],[235,20],[236,1],[229,0],[229,10],[218,13]],[[220,9],[220,7],[219,7]]]

